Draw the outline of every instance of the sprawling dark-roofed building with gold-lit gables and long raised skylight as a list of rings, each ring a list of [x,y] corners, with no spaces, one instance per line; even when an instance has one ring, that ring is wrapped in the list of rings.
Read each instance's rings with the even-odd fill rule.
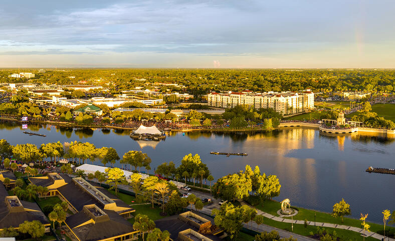
[[[81,177],[58,173],[29,180],[47,186],[48,195],[58,195],[69,203],[75,214],[67,217],[65,223],[80,241],[128,240],[137,233],[132,223],[125,219],[135,210],[105,188]]]

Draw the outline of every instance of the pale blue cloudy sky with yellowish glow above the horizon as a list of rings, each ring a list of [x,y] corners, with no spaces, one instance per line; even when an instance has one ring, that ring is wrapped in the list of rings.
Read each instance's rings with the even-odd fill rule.
[[[395,68],[393,0],[3,0],[0,67]]]

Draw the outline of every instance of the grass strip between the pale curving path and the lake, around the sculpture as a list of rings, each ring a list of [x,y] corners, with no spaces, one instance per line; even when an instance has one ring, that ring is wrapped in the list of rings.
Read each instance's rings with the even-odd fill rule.
[[[266,200],[263,205],[259,204],[256,206],[256,208],[258,208],[262,211],[268,212],[272,215],[278,216],[277,210],[281,209],[281,204],[280,204],[280,202],[277,202],[277,201]],[[314,210],[305,209],[305,208],[301,208],[301,207],[294,207],[294,208],[298,209],[298,214],[293,216],[293,219],[295,219],[295,220],[307,219],[308,221],[314,221]],[[289,217],[289,219],[291,219],[291,218]],[[341,223],[340,217],[335,218],[330,213],[319,212],[319,211],[316,212],[316,217],[315,217],[315,220],[317,222],[327,222],[327,223],[343,224],[343,225],[354,226],[354,227],[361,227],[361,222],[359,219],[354,219],[354,218],[349,218],[349,217],[344,217],[343,219],[344,219],[344,222]],[[377,223],[372,223],[372,222],[368,222],[368,223],[370,225],[370,231],[378,232],[378,231],[382,231],[384,229],[383,225],[380,225]],[[388,226],[385,227],[385,231],[388,231],[389,229],[395,229],[395,228],[388,227]],[[337,230],[336,230],[336,232],[337,232]]]

